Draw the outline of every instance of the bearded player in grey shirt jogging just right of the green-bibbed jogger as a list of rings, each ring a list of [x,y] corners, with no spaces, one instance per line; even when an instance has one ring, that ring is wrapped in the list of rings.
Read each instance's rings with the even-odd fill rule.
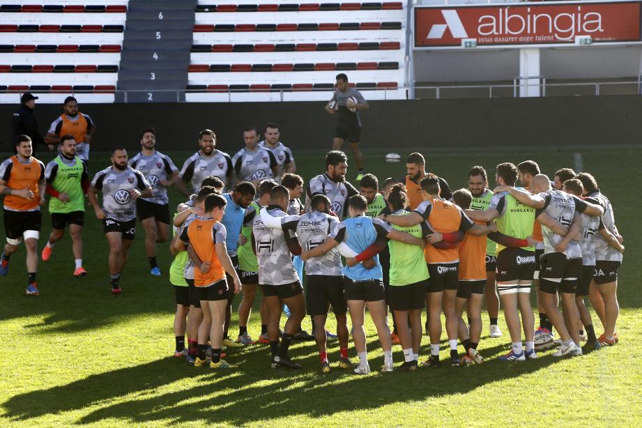
[[[99,191],[102,191],[102,207],[98,204]],[[142,172],[127,165],[127,151],[119,146],[112,151],[112,166],[93,177],[87,196],[96,218],[104,224],[112,293],[119,294],[121,273],[136,234],[136,199],[151,197],[152,188]]]

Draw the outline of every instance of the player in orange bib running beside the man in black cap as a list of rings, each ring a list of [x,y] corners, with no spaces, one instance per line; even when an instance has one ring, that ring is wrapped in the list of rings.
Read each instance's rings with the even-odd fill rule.
[[[76,155],[87,162],[89,161],[89,144],[96,129],[95,123],[89,115],[78,112],[78,102],[73,97],[65,98],[63,111],[64,113],[49,127],[49,131],[45,135],[45,142],[52,149],[54,144],[61,143],[63,135],[72,135],[76,142]]]

